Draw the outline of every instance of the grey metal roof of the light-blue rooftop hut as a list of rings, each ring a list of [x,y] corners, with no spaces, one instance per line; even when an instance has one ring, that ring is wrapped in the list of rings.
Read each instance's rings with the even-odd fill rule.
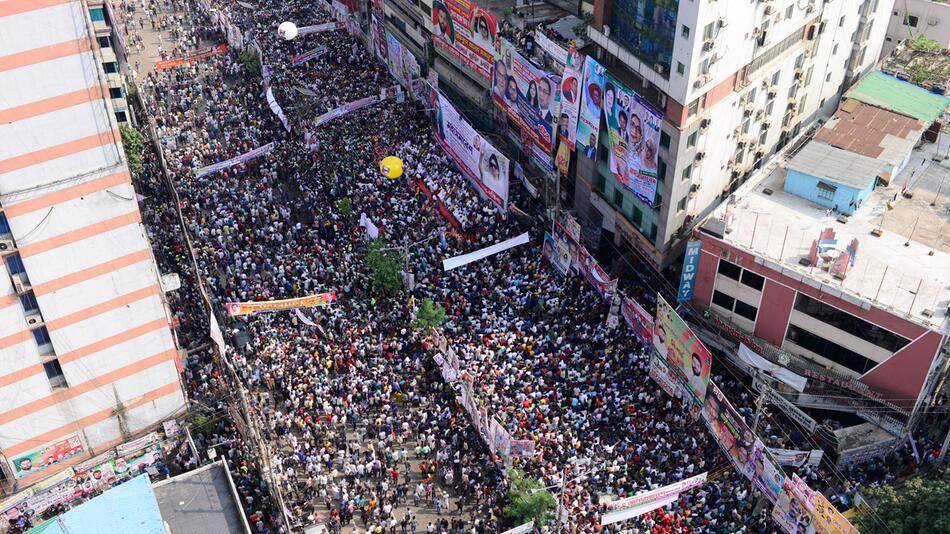
[[[812,140],[788,162],[788,168],[864,189],[884,170],[884,162]]]

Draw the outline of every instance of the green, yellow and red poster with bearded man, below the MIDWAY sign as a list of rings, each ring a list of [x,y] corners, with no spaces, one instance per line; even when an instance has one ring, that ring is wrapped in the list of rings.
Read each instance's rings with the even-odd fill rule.
[[[653,346],[669,366],[680,373],[696,402],[702,404],[712,368],[712,353],[660,295],[656,301]]]

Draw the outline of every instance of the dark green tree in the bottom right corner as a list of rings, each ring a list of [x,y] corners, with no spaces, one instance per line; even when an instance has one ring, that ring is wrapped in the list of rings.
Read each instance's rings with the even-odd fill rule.
[[[873,510],[862,508],[855,518],[861,534],[950,532],[950,481],[914,478],[892,486],[871,486],[863,492]]]

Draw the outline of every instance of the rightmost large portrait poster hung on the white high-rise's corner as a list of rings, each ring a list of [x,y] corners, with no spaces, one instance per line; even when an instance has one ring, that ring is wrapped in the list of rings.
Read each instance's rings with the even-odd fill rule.
[[[604,84],[603,109],[610,141],[610,171],[625,189],[652,206],[663,115],[610,74]]]

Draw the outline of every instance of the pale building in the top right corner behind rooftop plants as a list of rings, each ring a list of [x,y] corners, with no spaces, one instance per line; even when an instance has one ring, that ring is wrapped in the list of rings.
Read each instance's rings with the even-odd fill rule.
[[[924,35],[950,47],[950,2],[946,0],[901,0],[894,2],[884,49],[881,56],[890,54],[898,43]]]

